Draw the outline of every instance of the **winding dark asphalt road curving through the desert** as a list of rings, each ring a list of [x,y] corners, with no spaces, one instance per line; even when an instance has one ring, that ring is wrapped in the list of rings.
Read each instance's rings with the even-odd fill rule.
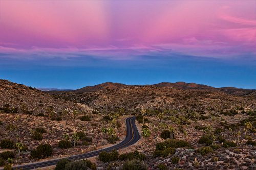
[[[104,151],[111,152],[112,150],[123,149],[123,148],[129,147],[130,145],[136,143],[140,139],[140,134],[136,127],[135,120],[136,120],[135,116],[126,118],[126,120],[125,120],[125,122],[126,122],[126,137],[120,143],[115,144],[112,147],[104,148],[101,150],[92,151],[92,152],[88,152],[88,153],[84,153],[84,154],[80,154],[80,155],[73,155],[73,156],[68,157],[68,159],[80,160],[80,159],[90,158],[93,156],[97,156],[97,155],[99,155],[99,153],[104,152]],[[48,160],[48,161],[44,161],[44,162],[18,165],[18,166],[14,166],[13,169],[29,170],[29,169],[36,169],[39,167],[56,165],[60,159],[63,159],[63,158],[52,159],[52,160]],[[2,168],[0,168],[0,169],[2,169]]]

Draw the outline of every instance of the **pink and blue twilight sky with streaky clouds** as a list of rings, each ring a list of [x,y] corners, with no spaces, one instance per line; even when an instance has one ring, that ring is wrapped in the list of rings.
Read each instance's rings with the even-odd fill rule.
[[[256,1],[0,0],[0,79],[256,89]]]

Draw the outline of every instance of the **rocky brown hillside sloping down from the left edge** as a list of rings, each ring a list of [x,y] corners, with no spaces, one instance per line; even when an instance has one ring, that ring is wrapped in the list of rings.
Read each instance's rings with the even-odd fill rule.
[[[52,95],[22,84],[0,80],[0,108],[6,112],[55,114],[63,110],[90,111],[90,107],[54,98]]]

